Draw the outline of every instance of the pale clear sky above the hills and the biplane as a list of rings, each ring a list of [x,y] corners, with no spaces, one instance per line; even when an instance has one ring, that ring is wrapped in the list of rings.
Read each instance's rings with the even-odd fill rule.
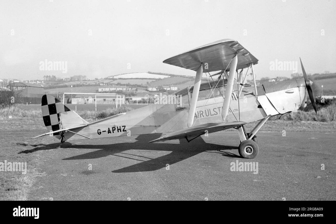
[[[336,72],[336,0],[1,0],[0,5],[0,79],[94,79],[147,71],[195,76],[162,61],[226,38],[259,60],[257,79],[295,72],[279,62],[297,63],[301,73],[299,57],[307,73]],[[48,71],[46,61],[64,67]]]

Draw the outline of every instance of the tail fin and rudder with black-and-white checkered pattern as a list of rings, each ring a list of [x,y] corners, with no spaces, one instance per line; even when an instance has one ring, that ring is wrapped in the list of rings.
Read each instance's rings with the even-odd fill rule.
[[[88,123],[75,111],[70,110],[58,99],[50,95],[43,95],[41,106],[44,125],[48,131],[56,131]],[[54,135],[59,135],[59,133],[54,133]]]

